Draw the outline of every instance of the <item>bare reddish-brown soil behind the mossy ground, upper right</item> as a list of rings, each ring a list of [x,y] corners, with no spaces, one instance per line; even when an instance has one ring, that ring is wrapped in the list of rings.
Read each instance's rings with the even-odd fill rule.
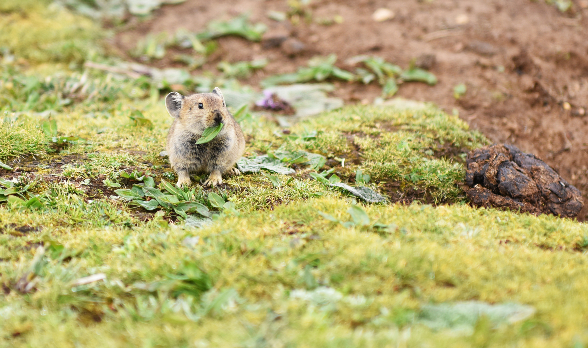
[[[249,12],[252,21],[269,26],[266,37],[285,33],[305,49],[292,55],[287,47],[221,38],[219,50],[193,73],[215,71],[220,60],[268,58],[268,66],[245,81],[256,86],[270,75],[295,71],[315,55],[337,53],[338,66],[349,70],[345,60],[359,54],[382,56],[402,67],[420,58],[439,83],[406,83],[398,96],[434,102],[450,113],[456,109],[490,140],[515,144],[545,160],[586,200],[588,19],[583,18],[588,8],[583,6],[586,2],[574,1],[571,11],[560,13],[543,1],[530,0],[315,0],[313,18],[340,15],[344,22],[320,25],[302,19],[298,25],[284,25],[266,13],[288,11],[285,0],[187,0],[164,6],[149,19],[131,19],[111,46],[132,59],[129,50],[148,33],[178,28],[199,32],[211,20]],[[395,11],[395,18],[373,21],[372,13],[382,7]],[[435,61],[426,55],[434,55]],[[173,52],[152,65],[181,66],[171,57]],[[456,100],[453,87],[459,83],[466,84],[467,93]],[[348,103],[371,103],[381,93],[377,85],[335,84],[334,94]],[[587,213],[584,208],[580,218]]]

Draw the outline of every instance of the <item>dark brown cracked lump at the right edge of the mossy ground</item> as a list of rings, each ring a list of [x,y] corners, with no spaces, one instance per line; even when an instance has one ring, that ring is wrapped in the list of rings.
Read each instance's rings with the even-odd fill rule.
[[[584,205],[580,190],[542,160],[515,146],[478,148],[467,154],[466,165],[466,194],[479,207],[571,218]]]

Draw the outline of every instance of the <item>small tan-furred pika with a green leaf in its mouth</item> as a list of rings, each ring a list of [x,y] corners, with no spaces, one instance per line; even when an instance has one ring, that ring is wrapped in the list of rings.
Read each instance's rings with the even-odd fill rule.
[[[169,129],[169,162],[178,173],[178,187],[189,185],[191,173],[208,173],[205,186],[222,184],[222,174],[239,175],[235,163],[245,151],[245,138],[239,123],[226,108],[219,87],[212,93],[182,96],[178,92],[165,97],[165,107],[174,118]],[[196,144],[208,127],[222,130],[208,143]]]

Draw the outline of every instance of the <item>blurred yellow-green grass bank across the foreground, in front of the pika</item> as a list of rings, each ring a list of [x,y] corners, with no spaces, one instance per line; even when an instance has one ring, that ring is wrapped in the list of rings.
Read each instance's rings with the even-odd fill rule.
[[[396,225],[377,233],[345,228],[317,213],[347,221],[349,206],[336,198],[312,199],[245,217],[223,215],[196,230],[158,220],[132,228],[51,226],[42,214],[3,209],[2,221],[45,226],[36,235],[2,235],[3,283],[26,273],[33,253],[19,246],[41,235],[79,254],[48,261],[35,292],[12,290],[1,298],[2,343],[566,347],[583,338],[588,275],[586,255],[577,249],[588,232],[583,224],[467,205],[364,207],[372,222]],[[198,244],[183,246],[191,235],[199,236]],[[204,305],[198,300],[186,305],[185,293],[174,298],[175,285],[145,290],[145,284],[174,278],[186,263],[199,265],[211,279]],[[99,272],[105,281],[72,286],[74,279]],[[308,288],[306,272],[317,285],[343,295],[336,306],[312,306],[289,296]],[[223,306],[212,306],[215,310],[195,321],[186,316],[185,310],[197,312],[228,289],[235,292]],[[426,303],[471,299],[525,303],[537,313],[482,332],[479,344],[418,323]]]

